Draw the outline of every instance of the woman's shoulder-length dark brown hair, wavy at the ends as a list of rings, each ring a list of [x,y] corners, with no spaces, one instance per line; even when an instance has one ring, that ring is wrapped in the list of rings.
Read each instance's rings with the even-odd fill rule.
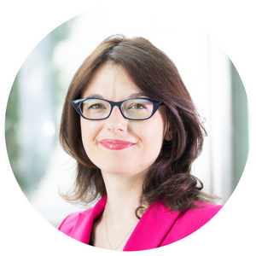
[[[147,39],[122,35],[105,39],[85,59],[67,91],[60,141],[67,154],[77,160],[77,176],[73,189],[62,196],[70,202],[87,204],[107,193],[101,170],[85,154],[80,117],[71,104],[81,97],[96,68],[107,61],[123,67],[148,97],[165,103],[167,129],[172,130],[172,140],[164,141],[159,157],[144,179],[141,204],[149,206],[162,201],[172,211],[183,211],[195,207],[195,201],[212,202],[217,197],[203,193],[201,181],[190,174],[207,133],[177,68]],[[138,210],[142,213],[143,207],[138,207],[136,214]]]

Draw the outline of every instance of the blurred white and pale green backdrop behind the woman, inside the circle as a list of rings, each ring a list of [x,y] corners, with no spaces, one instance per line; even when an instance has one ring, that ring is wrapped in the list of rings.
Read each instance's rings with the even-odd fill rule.
[[[81,209],[58,194],[71,188],[75,177],[75,161],[58,142],[67,88],[85,57],[114,33],[147,38],[176,64],[208,134],[193,174],[206,192],[221,197],[219,204],[228,201],[246,164],[247,95],[218,42],[188,24],[157,26],[154,20],[125,18],[97,9],[58,26],[28,55],[10,91],[5,120],[9,161],[26,198],[55,227]]]

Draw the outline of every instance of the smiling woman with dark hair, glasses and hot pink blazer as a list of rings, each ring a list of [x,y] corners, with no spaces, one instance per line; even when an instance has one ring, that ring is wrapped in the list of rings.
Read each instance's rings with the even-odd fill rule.
[[[59,230],[120,251],[165,246],[198,230],[221,208],[190,174],[204,133],[160,49],[144,38],[105,39],[73,77],[60,133],[77,160],[75,186],[62,196],[99,201],[69,215]]]

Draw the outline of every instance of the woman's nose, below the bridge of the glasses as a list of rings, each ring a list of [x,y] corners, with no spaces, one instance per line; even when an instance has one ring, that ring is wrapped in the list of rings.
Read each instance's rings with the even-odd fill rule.
[[[113,107],[112,113],[108,119],[106,119],[106,122],[108,130],[114,133],[127,130],[127,119],[124,118],[117,106]]]

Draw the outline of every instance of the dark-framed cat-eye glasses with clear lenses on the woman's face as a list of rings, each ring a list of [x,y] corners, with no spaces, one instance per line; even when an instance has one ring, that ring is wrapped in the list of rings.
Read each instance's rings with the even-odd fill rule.
[[[97,98],[85,98],[75,100],[72,104],[80,116],[89,120],[108,119],[114,106],[119,108],[125,119],[150,119],[160,105],[163,105],[160,101],[148,98],[135,98],[122,102],[110,102]]]

